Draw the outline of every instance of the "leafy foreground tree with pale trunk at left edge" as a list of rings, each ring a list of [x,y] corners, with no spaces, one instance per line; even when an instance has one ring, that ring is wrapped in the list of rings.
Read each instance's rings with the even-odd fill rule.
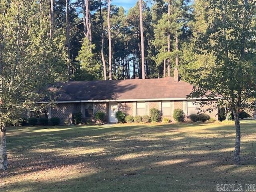
[[[50,38],[48,2],[0,1],[0,169],[7,169],[6,123],[18,124],[36,101],[51,96],[46,85],[63,80]],[[40,12],[40,9],[43,10]],[[37,19],[35,19],[37,18]],[[59,68],[59,69],[58,69]],[[58,71],[60,70],[60,71]]]

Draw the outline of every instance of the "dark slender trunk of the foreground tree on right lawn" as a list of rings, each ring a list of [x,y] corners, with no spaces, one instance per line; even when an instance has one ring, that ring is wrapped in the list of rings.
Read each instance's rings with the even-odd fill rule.
[[[236,109],[233,109],[234,121],[236,126],[236,142],[234,150],[234,164],[240,165],[240,144],[241,144],[241,130],[239,122],[239,112]]]

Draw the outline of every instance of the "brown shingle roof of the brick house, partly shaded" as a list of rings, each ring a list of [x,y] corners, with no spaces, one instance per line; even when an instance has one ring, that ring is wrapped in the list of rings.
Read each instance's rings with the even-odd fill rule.
[[[193,86],[172,77],[112,81],[70,81],[62,86],[57,101],[76,100],[136,100],[186,98]]]

